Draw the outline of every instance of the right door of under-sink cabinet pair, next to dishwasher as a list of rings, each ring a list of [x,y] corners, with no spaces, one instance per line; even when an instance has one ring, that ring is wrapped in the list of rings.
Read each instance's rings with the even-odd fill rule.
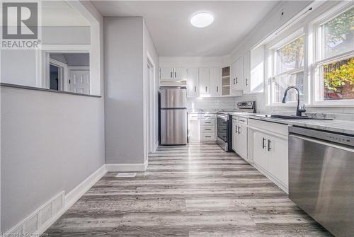
[[[277,137],[267,138],[268,171],[285,185],[288,184],[287,141]]]

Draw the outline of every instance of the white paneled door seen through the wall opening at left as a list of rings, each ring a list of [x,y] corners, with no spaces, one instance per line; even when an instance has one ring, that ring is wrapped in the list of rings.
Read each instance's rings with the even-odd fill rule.
[[[70,70],[69,71],[70,91],[74,93],[90,94],[90,71]]]

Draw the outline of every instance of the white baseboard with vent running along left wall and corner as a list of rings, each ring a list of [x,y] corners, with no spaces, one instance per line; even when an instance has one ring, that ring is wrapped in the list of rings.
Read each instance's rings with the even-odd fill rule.
[[[131,171],[142,172],[147,169],[147,160],[144,163],[135,164],[105,164],[98,168],[88,178],[79,183],[74,189],[65,195],[64,191],[52,197],[49,201],[34,212],[18,222],[5,236],[13,233],[37,233],[42,234],[59,219],[77,200],[82,197],[95,183],[107,172]]]

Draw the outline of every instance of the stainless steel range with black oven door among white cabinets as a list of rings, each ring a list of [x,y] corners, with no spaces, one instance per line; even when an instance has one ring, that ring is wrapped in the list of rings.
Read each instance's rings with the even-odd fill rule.
[[[256,101],[239,102],[237,108],[237,111],[217,112],[217,144],[224,151],[232,151],[232,114],[236,112],[256,112]]]

